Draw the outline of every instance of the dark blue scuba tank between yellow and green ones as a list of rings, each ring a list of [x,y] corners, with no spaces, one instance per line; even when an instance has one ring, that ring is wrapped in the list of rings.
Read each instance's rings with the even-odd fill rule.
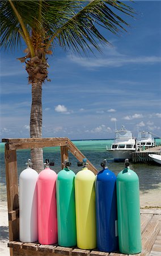
[[[116,175],[101,163],[103,170],[96,176],[97,247],[100,251],[118,250]]]

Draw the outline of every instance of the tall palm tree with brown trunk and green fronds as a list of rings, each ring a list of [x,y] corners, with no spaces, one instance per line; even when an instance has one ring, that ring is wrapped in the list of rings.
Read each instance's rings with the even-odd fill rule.
[[[1,47],[15,49],[26,44],[26,56],[18,59],[26,63],[32,85],[31,138],[42,137],[41,93],[49,67],[46,56],[57,45],[86,55],[92,48],[100,51],[100,43],[109,43],[100,27],[115,35],[126,31],[128,23],[118,16],[120,13],[133,16],[134,11],[117,0],[1,1]],[[43,170],[43,149],[31,150],[31,158],[33,168],[38,172]]]

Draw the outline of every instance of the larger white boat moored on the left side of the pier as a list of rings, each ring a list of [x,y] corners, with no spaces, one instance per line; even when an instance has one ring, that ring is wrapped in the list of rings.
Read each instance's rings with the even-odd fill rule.
[[[135,139],[132,136],[132,131],[125,129],[122,126],[121,130],[115,131],[115,140],[110,148],[106,149],[112,152],[115,162],[122,162],[126,158],[132,159],[132,152],[135,152]]]

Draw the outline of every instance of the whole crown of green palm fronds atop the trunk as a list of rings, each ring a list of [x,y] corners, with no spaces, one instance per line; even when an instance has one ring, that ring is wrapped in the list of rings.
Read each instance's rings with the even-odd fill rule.
[[[92,51],[92,47],[100,50],[100,43],[108,43],[108,39],[99,31],[100,26],[117,35],[128,26],[120,14],[134,15],[132,7],[116,0],[23,0],[12,3],[30,38],[35,31],[41,36],[45,48],[58,44],[64,49],[75,52],[82,49],[85,53]],[[15,48],[21,45],[23,29],[10,1],[1,1],[0,15],[1,46]]]

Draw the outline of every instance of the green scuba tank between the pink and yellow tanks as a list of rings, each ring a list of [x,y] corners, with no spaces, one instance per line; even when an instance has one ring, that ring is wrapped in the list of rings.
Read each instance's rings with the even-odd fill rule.
[[[71,163],[65,160],[64,168],[57,176],[57,221],[58,245],[77,245],[76,220],[75,220],[75,174],[69,169]]]

